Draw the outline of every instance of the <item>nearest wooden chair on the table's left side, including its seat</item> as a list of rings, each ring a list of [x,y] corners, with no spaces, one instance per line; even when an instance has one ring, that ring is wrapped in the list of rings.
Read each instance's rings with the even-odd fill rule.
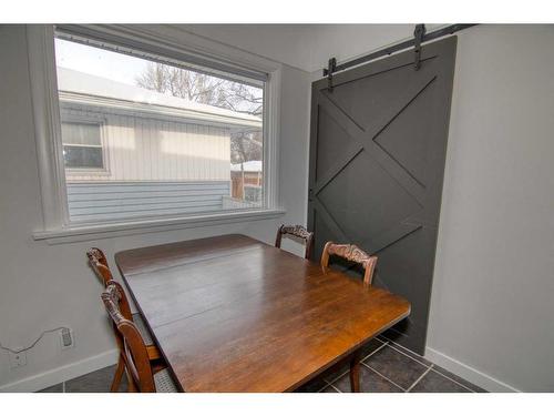
[[[123,287],[110,281],[102,293],[102,301],[112,318],[116,332],[117,344],[121,345],[123,359],[130,375],[132,392],[141,393],[177,393],[166,367],[151,365],[148,351],[136,325],[125,318],[130,312]]]

